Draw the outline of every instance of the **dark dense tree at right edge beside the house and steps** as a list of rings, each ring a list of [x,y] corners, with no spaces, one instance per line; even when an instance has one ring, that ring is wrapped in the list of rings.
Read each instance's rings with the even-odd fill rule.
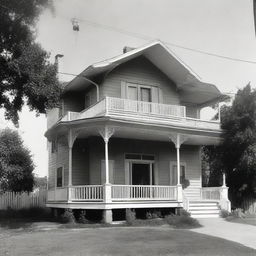
[[[227,174],[233,203],[256,198],[256,91],[247,85],[239,90],[231,107],[221,110],[222,143],[205,147],[212,185],[219,185],[222,172]]]

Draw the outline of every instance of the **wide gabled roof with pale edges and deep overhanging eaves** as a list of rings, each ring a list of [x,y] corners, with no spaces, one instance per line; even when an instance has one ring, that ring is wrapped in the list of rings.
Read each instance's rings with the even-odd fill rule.
[[[221,94],[215,85],[203,82],[188,65],[161,41],[148,43],[127,53],[89,66],[67,84],[64,92],[78,91],[84,88],[88,81],[86,82],[82,76],[95,77],[139,56],[146,57],[170,80],[175,82],[183,102],[210,104],[225,98],[225,95]]]

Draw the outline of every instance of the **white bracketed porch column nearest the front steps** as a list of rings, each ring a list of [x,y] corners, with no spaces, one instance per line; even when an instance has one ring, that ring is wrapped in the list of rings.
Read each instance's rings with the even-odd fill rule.
[[[182,201],[182,185],[180,184],[180,146],[187,140],[187,137],[177,133],[170,135],[170,139],[175,145],[177,156],[177,200]]]

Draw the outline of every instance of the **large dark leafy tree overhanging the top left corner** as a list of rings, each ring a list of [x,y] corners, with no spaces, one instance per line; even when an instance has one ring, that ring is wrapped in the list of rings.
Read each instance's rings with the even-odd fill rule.
[[[58,104],[60,86],[49,54],[35,41],[35,24],[50,0],[0,0],[0,107],[18,124],[18,112],[45,113]]]

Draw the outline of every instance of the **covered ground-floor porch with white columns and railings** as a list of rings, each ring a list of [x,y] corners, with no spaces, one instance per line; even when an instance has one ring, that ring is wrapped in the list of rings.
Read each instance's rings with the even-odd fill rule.
[[[48,207],[104,212],[189,209],[190,198],[182,189],[185,179],[189,187],[200,191],[196,200],[224,199],[223,188],[201,188],[200,145],[218,143],[218,134],[102,121],[97,126],[77,123],[61,135],[57,176],[48,186]],[[62,174],[58,177],[59,168]]]

